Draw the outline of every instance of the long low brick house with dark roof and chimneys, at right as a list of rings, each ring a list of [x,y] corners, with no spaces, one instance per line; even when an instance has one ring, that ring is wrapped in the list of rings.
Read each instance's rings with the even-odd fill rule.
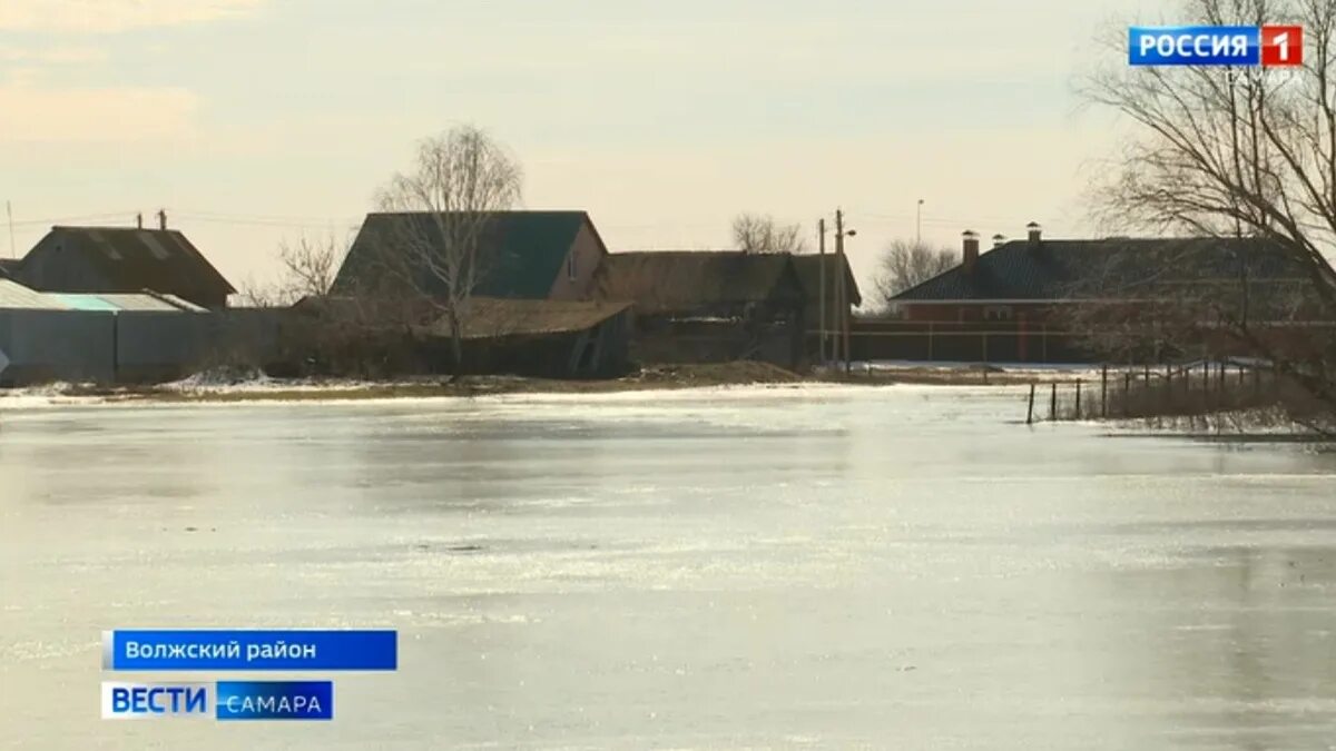
[[[1075,362],[1140,341],[1122,355],[1162,359],[1174,357],[1162,334],[1128,331],[1220,315],[1293,322],[1312,309],[1304,270],[1260,238],[1054,241],[1030,223],[1026,239],[994,241],[981,253],[965,233],[958,266],[892,298],[898,321],[856,326],[855,358]],[[1202,337],[1193,346],[1214,338]]]

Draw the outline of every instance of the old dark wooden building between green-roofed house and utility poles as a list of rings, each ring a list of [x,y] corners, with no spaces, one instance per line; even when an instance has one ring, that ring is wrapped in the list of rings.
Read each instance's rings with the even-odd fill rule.
[[[593,295],[633,303],[641,362],[804,361],[806,297],[787,254],[612,253]]]

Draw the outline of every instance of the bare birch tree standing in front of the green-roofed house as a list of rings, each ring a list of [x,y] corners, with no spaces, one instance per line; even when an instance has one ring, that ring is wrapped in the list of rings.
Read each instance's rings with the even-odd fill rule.
[[[496,212],[518,204],[522,172],[482,130],[460,126],[418,143],[417,160],[381,188],[382,211],[406,212],[378,262],[398,287],[444,319],[456,376],[469,299],[496,259],[485,251]]]

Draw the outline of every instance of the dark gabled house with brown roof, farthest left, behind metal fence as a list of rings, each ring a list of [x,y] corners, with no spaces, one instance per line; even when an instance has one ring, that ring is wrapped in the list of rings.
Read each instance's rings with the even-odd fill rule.
[[[186,235],[166,227],[52,227],[8,273],[40,291],[150,290],[212,310],[236,291]]]

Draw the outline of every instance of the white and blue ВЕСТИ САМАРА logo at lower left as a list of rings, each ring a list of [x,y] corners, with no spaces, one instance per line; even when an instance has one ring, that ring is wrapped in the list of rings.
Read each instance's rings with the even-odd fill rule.
[[[210,700],[212,695],[212,700]],[[103,682],[102,719],[331,720],[330,680]]]

